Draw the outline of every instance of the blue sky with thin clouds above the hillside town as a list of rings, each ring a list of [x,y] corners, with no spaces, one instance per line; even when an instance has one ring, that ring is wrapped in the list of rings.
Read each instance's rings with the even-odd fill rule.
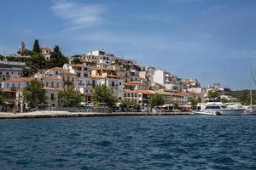
[[[251,88],[256,73],[255,0],[0,0],[0,54],[61,46],[104,49],[202,86]],[[253,84],[256,88],[256,84]]]

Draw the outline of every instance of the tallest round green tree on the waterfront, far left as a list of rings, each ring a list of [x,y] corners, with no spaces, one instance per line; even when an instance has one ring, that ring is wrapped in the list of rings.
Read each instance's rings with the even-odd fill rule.
[[[23,100],[30,108],[36,108],[46,99],[44,84],[36,80],[32,80],[22,90]]]

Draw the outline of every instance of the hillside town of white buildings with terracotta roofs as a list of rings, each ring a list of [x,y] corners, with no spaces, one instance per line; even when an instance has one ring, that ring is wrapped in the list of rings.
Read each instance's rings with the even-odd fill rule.
[[[38,41],[35,43],[39,48]],[[101,84],[112,90],[117,98],[116,106],[128,99],[136,102],[138,111],[148,108],[149,100],[154,94],[160,94],[164,99],[163,104],[166,107],[172,106],[172,109],[174,105],[177,105],[177,109],[191,108],[192,99],[204,100],[209,91],[218,92],[222,99],[233,99],[228,95],[230,89],[222,88],[219,83],[201,87],[195,77],[182,78],[163,68],[138,65],[134,59],[127,59],[102,49],[73,55],[63,62],[63,65],[51,59],[55,49],[39,49],[37,53],[44,56],[47,64],[42,66],[43,64],[38,63],[33,65],[34,69],[27,64],[27,60],[32,56],[26,53],[30,50],[26,49],[25,42],[20,42],[17,54],[2,55],[0,59],[1,94],[7,105],[18,108],[20,112],[29,109],[22,92],[33,80],[44,85],[46,98],[40,105],[51,110],[57,110],[61,106],[59,94],[69,86],[81,96],[82,101],[78,105],[95,105],[92,95],[96,86]]]

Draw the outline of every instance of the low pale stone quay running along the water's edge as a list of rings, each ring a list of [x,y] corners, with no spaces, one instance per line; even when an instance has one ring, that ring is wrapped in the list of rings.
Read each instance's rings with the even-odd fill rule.
[[[26,113],[0,112],[0,119],[17,119],[17,118],[53,118],[53,117],[75,117],[75,116],[177,116],[190,115],[189,112],[68,112],[68,111],[33,111]]]

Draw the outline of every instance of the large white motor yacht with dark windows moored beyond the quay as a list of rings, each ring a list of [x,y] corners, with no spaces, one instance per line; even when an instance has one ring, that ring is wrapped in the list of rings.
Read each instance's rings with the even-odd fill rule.
[[[241,116],[245,109],[227,108],[221,102],[207,102],[206,104],[197,105],[197,110],[193,111],[193,115],[207,115],[207,116]]]

